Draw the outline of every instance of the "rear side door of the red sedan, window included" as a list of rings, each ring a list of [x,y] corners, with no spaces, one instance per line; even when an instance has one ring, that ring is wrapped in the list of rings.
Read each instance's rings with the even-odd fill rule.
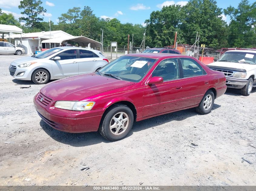
[[[183,74],[181,106],[184,108],[197,105],[210,85],[209,77],[194,59],[180,58],[180,64]]]

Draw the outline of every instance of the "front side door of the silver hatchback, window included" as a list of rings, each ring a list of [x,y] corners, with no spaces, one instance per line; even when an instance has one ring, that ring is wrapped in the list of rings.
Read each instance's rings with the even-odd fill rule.
[[[56,56],[59,56],[60,60],[55,60]],[[77,49],[65,50],[55,55],[51,63],[54,78],[78,75]]]

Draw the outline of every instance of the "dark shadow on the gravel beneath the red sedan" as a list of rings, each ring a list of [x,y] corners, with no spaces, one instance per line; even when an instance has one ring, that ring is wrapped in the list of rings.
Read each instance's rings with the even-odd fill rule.
[[[212,110],[215,110],[219,107],[221,106],[218,104],[214,104]],[[195,115],[200,115],[200,114],[198,114],[194,108],[191,108],[191,109],[181,110],[174,113],[168,113],[165,115],[135,122],[133,124],[133,128],[131,129],[131,132],[129,132],[126,137],[131,136],[133,132],[143,131],[145,129],[159,126],[164,123],[168,123],[170,121],[182,121],[184,119],[187,119]],[[98,132],[87,132],[87,133],[61,132],[48,126],[43,120],[40,121],[40,126],[55,141],[61,142],[63,144],[71,145],[74,147],[95,145],[101,142],[110,143],[110,141],[103,138]]]

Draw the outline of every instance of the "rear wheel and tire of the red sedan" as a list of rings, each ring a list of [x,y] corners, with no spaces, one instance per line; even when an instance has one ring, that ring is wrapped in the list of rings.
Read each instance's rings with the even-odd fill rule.
[[[196,111],[200,114],[210,113],[214,104],[214,93],[211,90],[208,90],[205,94],[198,107],[196,107]]]

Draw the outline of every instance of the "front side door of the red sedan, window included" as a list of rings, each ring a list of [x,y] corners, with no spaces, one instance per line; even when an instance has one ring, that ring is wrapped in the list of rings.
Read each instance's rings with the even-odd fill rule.
[[[161,61],[151,77],[162,77],[161,84],[144,85],[143,117],[177,110],[182,102],[182,79],[178,59]],[[150,78],[151,78],[150,77]]]

